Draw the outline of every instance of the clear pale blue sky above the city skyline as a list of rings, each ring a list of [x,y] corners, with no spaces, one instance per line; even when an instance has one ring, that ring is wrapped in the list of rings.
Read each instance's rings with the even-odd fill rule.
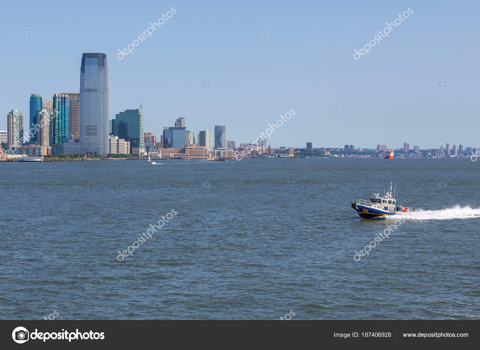
[[[409,7],[389,37],[353,59]],[[145,131],[157,134],[184,117],[195,133],[228,125],[238,145],[294,109],[267,144],[480,145],[478,1],[26,0],[3,2],[0,16],[2,130],[11,109],[27,126],[31,94],[78,92],[82,53],[103,52],[110,119],[143,102]]]

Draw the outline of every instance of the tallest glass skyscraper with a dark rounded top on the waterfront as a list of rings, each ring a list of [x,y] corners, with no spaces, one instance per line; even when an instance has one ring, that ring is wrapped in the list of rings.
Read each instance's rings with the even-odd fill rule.
[[[108,154],[108,99],[107,55],[97,52],[82,54],[80,67],[80,147],[82,152],[103,157]]]

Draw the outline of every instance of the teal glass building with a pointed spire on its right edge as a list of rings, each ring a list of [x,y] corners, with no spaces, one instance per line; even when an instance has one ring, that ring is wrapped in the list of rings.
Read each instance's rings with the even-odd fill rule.
[[[112,127],[115,136],[130,142],[130,154],[133,154],[133,148],[145,147],[142,104],[139,109],[126,109],[116,114]]]

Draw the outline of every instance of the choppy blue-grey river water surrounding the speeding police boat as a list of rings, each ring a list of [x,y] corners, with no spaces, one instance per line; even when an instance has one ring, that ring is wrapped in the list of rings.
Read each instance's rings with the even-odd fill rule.
[[[480,162],[162,163],[0,163],[0,318],[480,319]],[[356,262],[390,181],[417,212]]]

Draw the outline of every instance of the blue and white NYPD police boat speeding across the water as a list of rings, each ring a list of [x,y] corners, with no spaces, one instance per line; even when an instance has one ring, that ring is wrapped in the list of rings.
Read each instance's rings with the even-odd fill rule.
[[[357,199],[355,202],[352,202],[352,208],[364,219],[409,214],[413,211],[412,208],[407,206],[396,205],[395,190],[392,189],[392,182],[390,182],[390,188],[384,192],[383,196],[380,196],[379,192],[373,192],[370,201]]]

